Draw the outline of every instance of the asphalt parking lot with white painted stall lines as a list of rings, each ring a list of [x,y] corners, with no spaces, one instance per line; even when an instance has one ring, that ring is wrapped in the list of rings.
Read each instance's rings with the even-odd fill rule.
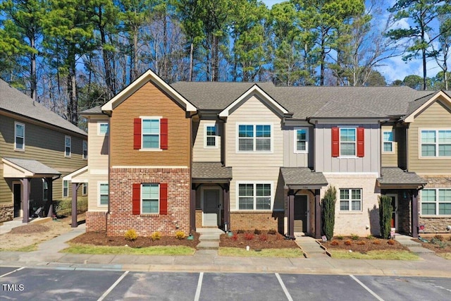
[[[0,267],[0,300],[451,300],[451,278]]]

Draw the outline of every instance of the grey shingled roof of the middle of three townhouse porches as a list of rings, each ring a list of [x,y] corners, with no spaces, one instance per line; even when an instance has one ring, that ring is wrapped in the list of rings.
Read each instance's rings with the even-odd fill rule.
[[[328,185],[323,173],[308,167],[280,167],[285,185],[290,189],[319,189]]]

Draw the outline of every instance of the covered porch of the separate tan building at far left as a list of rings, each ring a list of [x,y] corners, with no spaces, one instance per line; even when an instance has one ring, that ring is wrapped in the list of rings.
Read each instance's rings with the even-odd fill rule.
[[[22,217],[28,223],[33,217],[51,217],[53,182],[61,173],[37,160],[4,157],[3,176],[11,183],[13,217]]]

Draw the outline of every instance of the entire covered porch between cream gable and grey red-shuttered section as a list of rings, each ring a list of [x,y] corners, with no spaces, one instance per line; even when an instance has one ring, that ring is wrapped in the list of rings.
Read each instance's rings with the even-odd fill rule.
[[[328,185],[323,173],[307,167],[281,167],[287,202],[285,235],[295,239],[302,232],[321,238],[321,188]]]

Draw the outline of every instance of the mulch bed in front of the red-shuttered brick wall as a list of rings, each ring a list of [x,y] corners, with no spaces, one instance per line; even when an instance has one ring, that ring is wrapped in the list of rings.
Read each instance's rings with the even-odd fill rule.
[[[81,243],[85,245],[105,245],[119,247],[128,245],[129,247],[152,247],[157,245],[185,245],[195,248],[199,244],[199,233],[194,234],[194,240],[179,240],[173,236],[162,236],[159,240],[152,240],[150,237],[138,236],[136,240],[126,240],[123,236],[106,236],[104,232],[87,232],[69,242]]]

